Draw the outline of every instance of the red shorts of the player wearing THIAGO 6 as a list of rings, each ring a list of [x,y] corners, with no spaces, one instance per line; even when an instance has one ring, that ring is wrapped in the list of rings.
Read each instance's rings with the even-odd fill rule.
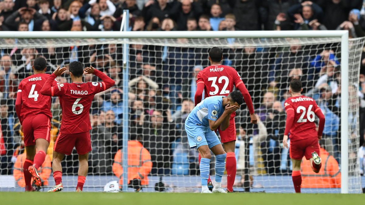
[[[81,132],[77,134],[63,134],[59,132],[53,150],[70,155],[73,147],[76,148],[77,154],[84,155],[91,151],[90,132]]]

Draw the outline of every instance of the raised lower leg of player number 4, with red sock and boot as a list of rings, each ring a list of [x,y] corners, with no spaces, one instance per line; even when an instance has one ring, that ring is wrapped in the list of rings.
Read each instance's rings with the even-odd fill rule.
[[[37,153],[35,153],[33,164],[28,166],[28,171],[33,177],[33,182],[36,186],[40,187],[42,185],[41,176],[38,174],[38,168],[42,166],[46,159],[46,152],[49,146],[49,142],[45,139],[36,139],[35,147],[37,147]]]

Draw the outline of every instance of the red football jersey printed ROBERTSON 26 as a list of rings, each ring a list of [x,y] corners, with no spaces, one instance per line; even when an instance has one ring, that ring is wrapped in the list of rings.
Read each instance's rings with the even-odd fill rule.
[[[322,111],[313,98],[303,95],[289,97],[288,100],[285,101],[284,107],[288,116],[293,115],[292,113],[294,113],[294,120],[290,123],[287,121],[285,127],[285,135],[288,135],[290,132],[290,140],[318,137],[314,120],[316,112],[320,111],[322,114]],[[291,124],[290,128],[288,128],[288,124]]]

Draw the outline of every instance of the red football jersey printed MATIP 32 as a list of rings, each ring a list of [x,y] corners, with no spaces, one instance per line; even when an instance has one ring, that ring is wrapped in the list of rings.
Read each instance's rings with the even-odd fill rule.
[[[211,65],[197,75],[196,84],[205,84],[205,97],[228,96],[234,86],[242,84],[241,76],[230,66]]]

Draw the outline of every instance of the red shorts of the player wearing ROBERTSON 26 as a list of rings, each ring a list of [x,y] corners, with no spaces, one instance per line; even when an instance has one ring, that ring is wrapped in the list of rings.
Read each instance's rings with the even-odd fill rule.
[[[308,138],[292,141],[290,140],[290,158],[301,160],[303,156],[306,156],[306,159],[309,160],[312,158],[312,152],[319,153],[319,144],[318,138]]]

